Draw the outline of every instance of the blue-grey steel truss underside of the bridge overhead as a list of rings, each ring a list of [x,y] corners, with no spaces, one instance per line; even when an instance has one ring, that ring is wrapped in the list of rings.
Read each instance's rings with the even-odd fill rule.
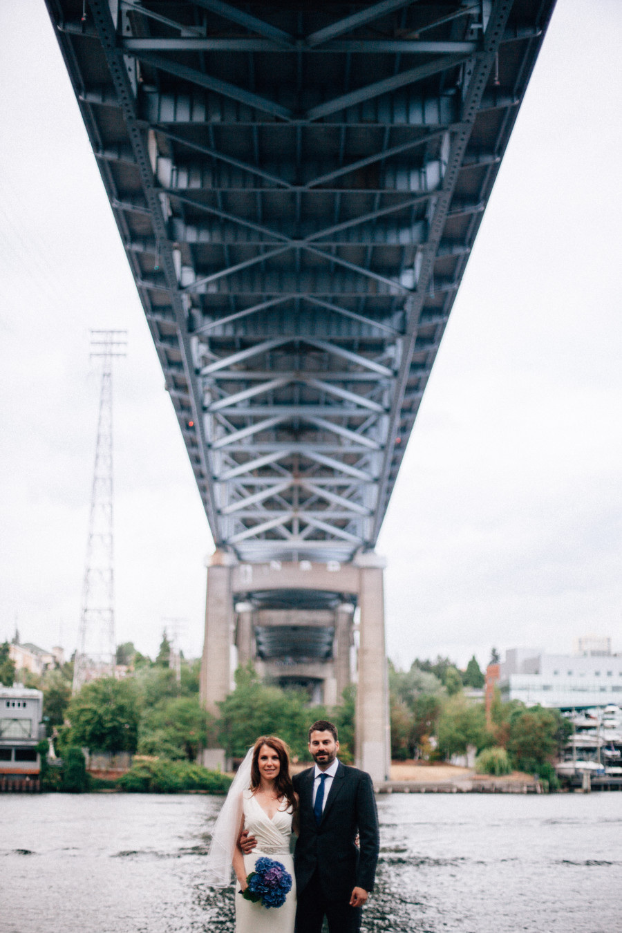
[[[554,0],[47,3],[216,545],[373,547]]]

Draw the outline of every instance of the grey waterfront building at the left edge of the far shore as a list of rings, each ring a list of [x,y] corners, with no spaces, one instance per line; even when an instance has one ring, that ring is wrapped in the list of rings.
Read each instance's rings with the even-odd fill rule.
[[[41,690],[0,686],[0,782],[38,779],[36,745],[46,733],[42,718]]]

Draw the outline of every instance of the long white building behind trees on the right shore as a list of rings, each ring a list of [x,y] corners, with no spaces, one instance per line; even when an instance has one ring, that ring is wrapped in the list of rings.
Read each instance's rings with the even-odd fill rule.
[[[622,656],[604,653],[546,654],[511,648],[501,664],[502,699],[532,706],[582,709],[622,705]]]

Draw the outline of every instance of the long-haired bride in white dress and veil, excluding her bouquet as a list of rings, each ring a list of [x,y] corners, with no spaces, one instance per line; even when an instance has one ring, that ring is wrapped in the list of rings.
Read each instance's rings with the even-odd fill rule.
[[[289,776],[289,755],[284,742],[262,735],[242,761],[214,826],[208,856],[212,884],[230,884],[231,866],[237,878],[236,933],[294,933],[296,879],[290,840],[297,812],[297,795]],[[242,829],[256,837],[256,848],[242,855],[238,840]],[[292,888],[279,908],[267,908],[242,898],[247,876],[258,858],[280,862],[292,876]]]

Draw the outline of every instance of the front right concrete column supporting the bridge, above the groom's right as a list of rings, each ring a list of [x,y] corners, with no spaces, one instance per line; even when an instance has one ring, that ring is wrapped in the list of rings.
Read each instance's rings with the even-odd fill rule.
[[[384,562],[377,554],[367,552],[355,558],[354,563],[360,567],[361,607],[355,757],[357,766],[370,773],[374,781],[384,781],[391,764],[384,641]]]

